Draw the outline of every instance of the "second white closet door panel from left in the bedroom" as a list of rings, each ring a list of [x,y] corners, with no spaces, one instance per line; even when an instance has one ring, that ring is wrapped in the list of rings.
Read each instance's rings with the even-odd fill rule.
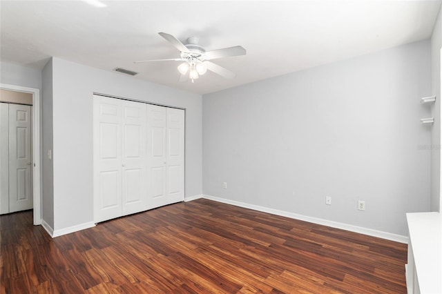
[[[123,215],[146,210],[146,104],[122,101]]]

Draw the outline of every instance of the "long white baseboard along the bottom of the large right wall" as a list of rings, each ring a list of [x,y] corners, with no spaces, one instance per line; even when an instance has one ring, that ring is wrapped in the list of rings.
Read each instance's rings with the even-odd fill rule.
[[[330,226],[332,228],[340,228],[342,230],[346,230],[346,231],[351,231],[354,233],[360,233],[360,234],[364,234],[364,235],[369,235],[372,237],[378,237],[378,238],[382,238],[382,239],[387,239],[387,240],[391,240],[391,241],[395,241],[395,242],[400,242],[400,243],[404,243],[407,244],[408,243],[408,237],[407,236],[403,236],[403,235],[396,235],[396,234],[392,234],[392,233],[387,233],[387,232],[383,232],[383,231],[377,231],[377,230],[373,230],[372,228],[363,228],[361,226],[353,226],[351,224],[343,224],[340,222],[332,222],[329,221],[327,219],[320,219],[317,217],[309,217],[306,215],[298,215],[296,213],[289,213],[287,211],[282,211],[282,210],[277,210],[277,209],[273,209],[273,208],[267,208],[264,206],[258,206],[258,205],[253,205],[253,204],[247,204],[244,202],[237,202],[234,200],[230,200],[230,199],[224,199],[224,198],[220,198],[220,197],[215,197],[215,196],[211,196],[211,195],[204,195],[203,197],[204,199],[209,199],[209,200],[213,200],[216,202],[222,202],[225,204],[231,204],[234,206],[240,206],[243,208],[249,208],[249,209],[253,209],[253,210],[258,210],[258,211],[262,211],[263,213],[271,213],[273,215],[280,215],[282,217],[290,217],[292,219],[299,219],[305,222],[311,222],[314,224],[322,224],[323,226]]]

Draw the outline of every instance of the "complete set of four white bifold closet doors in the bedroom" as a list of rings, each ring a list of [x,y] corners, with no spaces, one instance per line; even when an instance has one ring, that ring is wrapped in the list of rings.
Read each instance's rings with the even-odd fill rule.
[[[95,222],[184,200],[184,110],[93,103]]]

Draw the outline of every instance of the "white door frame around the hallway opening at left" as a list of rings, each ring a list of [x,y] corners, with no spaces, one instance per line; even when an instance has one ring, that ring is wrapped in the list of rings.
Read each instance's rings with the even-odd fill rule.
[[[0,84],[3,90],[32,94],[32,197],[34,199],[34,225],[41,224],[41,156],[40,156],[40,89]]]

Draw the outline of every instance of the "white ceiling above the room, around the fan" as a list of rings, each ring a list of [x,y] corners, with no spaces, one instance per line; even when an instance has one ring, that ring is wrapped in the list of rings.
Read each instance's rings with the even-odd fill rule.
[[[1,61],[42,69],[59,57],[201,94],[430,37],[441,1],[1,1]],[[158,32],[206,50],[243,46],[214,60],[233,72],[179,83],[180,62]]]

